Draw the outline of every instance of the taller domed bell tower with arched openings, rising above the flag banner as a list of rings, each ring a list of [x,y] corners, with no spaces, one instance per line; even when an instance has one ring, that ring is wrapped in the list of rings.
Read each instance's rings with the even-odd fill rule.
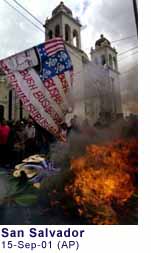
[[[72,11],[63,2],[52,11],[52,17],[45,22],[45,40],[62,37],[67,44],[81,49],[81,24],[73,18]]]

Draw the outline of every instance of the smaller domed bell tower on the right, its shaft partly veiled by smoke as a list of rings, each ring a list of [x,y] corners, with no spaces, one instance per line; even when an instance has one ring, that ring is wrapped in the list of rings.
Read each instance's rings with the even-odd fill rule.
[[[110,105],[110,111],[114,114],[121,114],[122,104],[117,51],[103,34],[95,42],[95,49],[91,48],[91,59],[98,66],[104,66],[108,69],[108,94],[110,94],[108,104]]]

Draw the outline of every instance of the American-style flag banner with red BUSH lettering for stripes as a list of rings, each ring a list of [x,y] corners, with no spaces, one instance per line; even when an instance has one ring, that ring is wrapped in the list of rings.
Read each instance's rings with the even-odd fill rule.
[[[0,68],[26,111],[61,138],[60,125],[71,110],[73,65],[60,37],[0,61]]]

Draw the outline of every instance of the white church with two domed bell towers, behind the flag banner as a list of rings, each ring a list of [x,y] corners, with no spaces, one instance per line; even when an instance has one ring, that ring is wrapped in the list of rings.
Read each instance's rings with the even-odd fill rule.
[[[91,124],[102,117],[122,114],[117,51],[103,35],[91,48],[91,59],[81,48],[80,20],[63,2],[52,11],[44,24],[45,41],[62,37],[73,67],[74,111],[79,119]],[[70,115],[70,116],[73,116]],[[0,118],[19,120],[27,117],[5,75],[0,72]]]

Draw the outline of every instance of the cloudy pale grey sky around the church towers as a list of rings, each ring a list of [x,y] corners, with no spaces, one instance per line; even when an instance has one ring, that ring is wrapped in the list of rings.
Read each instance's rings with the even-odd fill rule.
[[[51,17],[60,0],[17,0],[36,16],[41,23]],[[0,59],[23,51],[44,41],[44,32],[29,23],[6,2],[28,17],[44,31],[42,25],[24,12],[14,0],[0,0]],[[95,41],[104,34],[117,52],[123,53],[137,46],[137,32],[132,0],[64,0],[74,17],[79,17],[82,49],[89,55]],[[127,40],[114,42],[129,36]],[[137,111],[137,48],[118,56],[122,98],[125,108]],[[135,109],[134,109],[135,108]]]

